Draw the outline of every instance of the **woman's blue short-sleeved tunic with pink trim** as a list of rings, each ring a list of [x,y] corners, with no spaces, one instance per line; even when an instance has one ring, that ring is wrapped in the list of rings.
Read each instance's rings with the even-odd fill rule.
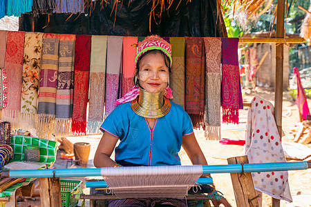
[[[167,115],[156,119],[153,127],[132,110],[130,102],[122,103],[104,120],[100,130],[120,139],[115,161],[144,166],[180,165],[182,136],[194,132],[187,112],[173,102]]]

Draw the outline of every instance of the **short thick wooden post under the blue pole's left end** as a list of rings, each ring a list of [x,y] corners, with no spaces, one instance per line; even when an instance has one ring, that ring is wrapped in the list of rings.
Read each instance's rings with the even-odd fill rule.
[[[59,177],[39,178],[42,207],[62,207]]]

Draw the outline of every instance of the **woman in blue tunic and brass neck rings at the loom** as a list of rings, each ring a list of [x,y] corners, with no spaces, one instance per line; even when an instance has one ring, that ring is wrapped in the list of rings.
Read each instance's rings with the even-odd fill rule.
[[[101,126],[104,135],[94,157],[98,167],[180,165],[185,149],[194,165],[207,165],[191,119],[182,106],[169,101],[171,45],[158,36],[138,45],[135,85]],[[139,94],[139,95],[138,95]],[[117,141],[120,144],[115,148]],[[115,148],[115,161],[110,156]],[[151,203],[153,202],[153,204]],[[186,206],[184,200],[111,201],[109,206]],[[163,205],[162,205],[163,204]]]

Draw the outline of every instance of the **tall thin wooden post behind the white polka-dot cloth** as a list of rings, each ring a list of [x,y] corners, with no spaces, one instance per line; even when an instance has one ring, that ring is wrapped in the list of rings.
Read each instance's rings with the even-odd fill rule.
[[[284,14],[285,1],[278,0],[276,16],[276,38],[284,38]],[[275,85],[274,85],[274,118],[276,126],[282,137],[282,102],[283,102],[283,56],[284,43],[276,45],[276,68],[275,68]],[[272,198],[272,207],[279,207],[280,200]]]

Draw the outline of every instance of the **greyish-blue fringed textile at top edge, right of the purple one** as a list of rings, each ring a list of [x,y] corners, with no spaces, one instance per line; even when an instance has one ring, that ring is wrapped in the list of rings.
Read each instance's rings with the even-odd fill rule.
[[[53,13],[84,13],[84,1],[55,0]]]

